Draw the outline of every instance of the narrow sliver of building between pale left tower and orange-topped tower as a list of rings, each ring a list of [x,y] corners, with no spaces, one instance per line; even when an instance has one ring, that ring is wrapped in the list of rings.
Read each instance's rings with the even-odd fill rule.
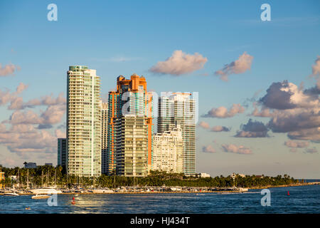
[[[101,109],[101,172],[107,174],[107,126],[108,126],[108,103],[102,103]]]

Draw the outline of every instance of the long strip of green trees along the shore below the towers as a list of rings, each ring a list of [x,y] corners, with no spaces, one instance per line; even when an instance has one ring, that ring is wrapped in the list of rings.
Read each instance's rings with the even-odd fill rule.
[[[57,185],[59,187],[119,187],[119,186],[183,186],[183,187],[263,187],[277,185],[292,185],[299,183],[289,175],[278,175],[277,177],[257,177],[255,175],[240,177],[206,177],[200,178],[197,175],[186,177],[183,174],[172,174],[159,171],[151,171],[147,177],[120,177],[101,175],[100,177],[75,177],[65,174],[62,167],[52,167],[49,165],[38,166],[36,168],[2,168],[5,172],[5,180],[1,184],[11,187],[20,183],[20,186],[41,187]],[[17,176],[17,180],[11,180],[9,176]]]

